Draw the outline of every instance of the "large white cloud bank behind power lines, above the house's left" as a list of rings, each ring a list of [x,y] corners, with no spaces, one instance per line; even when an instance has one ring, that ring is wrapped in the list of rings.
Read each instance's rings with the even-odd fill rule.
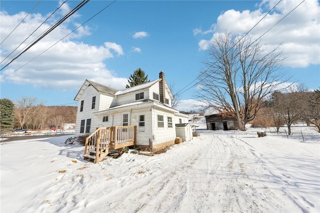
[[[67,8],[67,5],[65,5],[65,8]],[[4,39],[25,15],[25,12],[9,15],[5,11],[0,11],[0,37]],[[4,57],[18,46],[18,44],[25,39],[26,35],[29,35],[45,18],[45,15],[42,16],[39,13],[28,15],[1,44],[0,60],[2,61]],[[76,23],[75,25],[78,24]],[[43,32],[49,26],[50,23],[43,24],[39,32]],[[0,78],[5,77],[2,82],[32,84],[39,88],[77,90],[87,78],[117,89],[124,88],[127,79],[117,77],[114,72],[108,70],[103,63],[107,58],[123,55],[121,45],[106,41],[102,45],[97,46],[71,40],[71,38],[74,37],[78,38],[90,34],[90,28],[88,26],[81,26],[76,33],[72,33],[72,36],[68,36],[66,39],[59,41],[46,50],[72,29],[68,28],[67,24],[62,24],[55,28],[46,37],[33,45],[7,66],[7,68],[1,71]],[[36,31],[36,33],[27,39],[26,43],[31,42],[38,36],[39,32]],[[25,46],[25,44],[22,46]],[[21,49],[22,46],[19,47],[19,49]],[[43,54],[36,57],[43,51],[45,51]],[[10,57],[12,57],[12,55]],[[30,60],[32,61],[18,69]],[[1,67],[3,67],[3,63]],[[12,73],[12,71],[14,72]]]

